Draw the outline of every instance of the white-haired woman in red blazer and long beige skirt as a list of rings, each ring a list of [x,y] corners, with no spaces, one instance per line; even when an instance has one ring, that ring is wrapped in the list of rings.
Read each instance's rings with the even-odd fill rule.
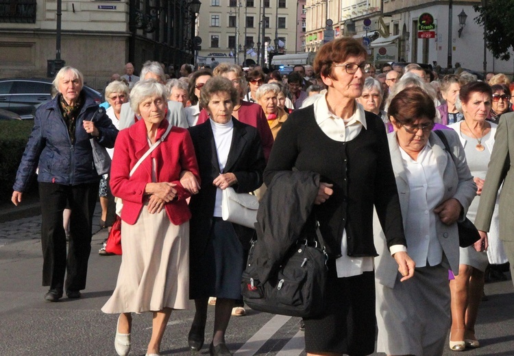
[[[102,311],[120,313],[114,340],[118,355],[130,351],[131,313],[152,311],[154,330],[147,355],[158,355],[171,310],[188,307],[190,194],[179,176],[187,170],[200,178],[188,131],[169,128],[164,119],[166,88],[155,80],[139,81],[130,106],[143,119],[122,130],[114,146],[110,185],[113,195],[123,200],[123,257],[116,289]]]

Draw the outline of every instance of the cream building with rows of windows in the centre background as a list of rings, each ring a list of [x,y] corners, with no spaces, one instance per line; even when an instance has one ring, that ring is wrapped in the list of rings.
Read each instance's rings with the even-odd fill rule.
[[[267,63],[269,56],[263,53],[302,51],[302,1],[205,0],[198,21],[197,62],[209,64],[215,58],[246,66],[263,59]]]

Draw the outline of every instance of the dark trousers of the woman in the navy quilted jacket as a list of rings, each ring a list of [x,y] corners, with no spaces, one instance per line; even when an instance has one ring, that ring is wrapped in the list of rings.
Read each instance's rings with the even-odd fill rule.
[[[98,196],[98,182],[83,185],[39,183],[41,200],[42,285],[78,291],[86,287],[91,251],[91,228]],[[70,241],[66,257],[66,234],[62,211],[69,203]],[[66,285],[64,274],[67,272]]]

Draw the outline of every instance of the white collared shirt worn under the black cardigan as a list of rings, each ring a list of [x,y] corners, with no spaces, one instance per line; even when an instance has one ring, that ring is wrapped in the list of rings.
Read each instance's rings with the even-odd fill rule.
[[[355,139],[360,130],[366,128],[364,108],[357,102],[355,104],[354,115],[349,119],[341,119],[328,109],[326,95],[320,95],[314,102],[314,115],[319,128],[334,141],[345,142]],[[339,278],[358,276],[373,270],[373,257],[350,257],[347,255],[347,250],[346,229],[344,229],[341,257],[336,259],[336,272]]]

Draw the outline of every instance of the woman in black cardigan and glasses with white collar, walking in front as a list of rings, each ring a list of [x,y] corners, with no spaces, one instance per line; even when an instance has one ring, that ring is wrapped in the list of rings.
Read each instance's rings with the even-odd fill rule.
[[[405,251],[402,213],[384,124],[365,112],[360,97],[369,64],[352,38],[321,47],[315,71],[328,93],[297,110],[282,126],[265,170],[269,184],[278,171],[321,175],[311,222],[329,254],[323,314],[305,321],[308,355],[368,355],[375,346],[373,209],[386,231],[402,281],[413,276]]]

